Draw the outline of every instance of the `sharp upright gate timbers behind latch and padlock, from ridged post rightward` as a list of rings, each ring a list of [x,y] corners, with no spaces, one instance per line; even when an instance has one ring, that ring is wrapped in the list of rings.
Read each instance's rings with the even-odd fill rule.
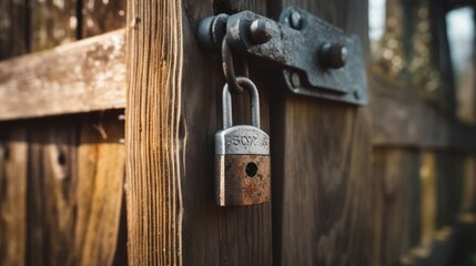
[[[131,263],[377,265],[368,110],[292,95],[259,64],[251,65],[251,79],[271,135],[273,200],[213,203],[224,79],[220,58],[200,49],[196,25],[213,13],[246,9],[276,19],[290,4],[358,34],[367,47],[362,1],[130,1]],[[236,102],[235,115],[246,121],[246,100]]]

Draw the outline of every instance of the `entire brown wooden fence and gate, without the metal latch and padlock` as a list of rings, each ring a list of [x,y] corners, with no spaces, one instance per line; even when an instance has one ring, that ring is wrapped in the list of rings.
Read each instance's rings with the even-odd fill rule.
[[[476,130],[455,116],[444,17],[466,3],[386,0],[381,44],[398,51],[376,63],[368,1],[1,1],[0,264],[465,263]],[[272,201],[219,207],[225,81],[198,24],[242,10],[277,20],[287,6],[359,37],[369,104],[292,94],[278,66],[250,60]],[[422,72],[408,71],[413,59]],[[393,61],[408,64],[385,72]],[[437,76],[437,93],[415,73]],[[233,105],[249,123],[247,96]]]

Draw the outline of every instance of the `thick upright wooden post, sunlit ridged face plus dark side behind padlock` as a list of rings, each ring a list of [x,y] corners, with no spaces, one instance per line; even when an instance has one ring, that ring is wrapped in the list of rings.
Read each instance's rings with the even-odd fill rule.
[[[220,60],[194,37],[212,13],[209,1],[128,2],[126,21],[135,21],[128,25],[130,264],[271,265],[270,204],[214,204],[213,135],[224,81]],[[259,88],[267,129],[269,101]],[[234,102],[244,121],[246,101]]]

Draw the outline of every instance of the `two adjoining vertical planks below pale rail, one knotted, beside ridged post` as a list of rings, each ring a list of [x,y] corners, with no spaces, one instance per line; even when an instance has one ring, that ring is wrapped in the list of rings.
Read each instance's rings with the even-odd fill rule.
[[[28,127],[27,264],[112,265],[125,253],[118,249],[123,124],[97,114]]]

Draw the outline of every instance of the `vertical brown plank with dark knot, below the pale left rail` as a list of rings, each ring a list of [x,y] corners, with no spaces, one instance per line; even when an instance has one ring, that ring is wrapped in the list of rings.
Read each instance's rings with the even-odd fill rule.
[[[27,264],[69,265],[74,242],[78,129],[72,123],[29,126],[34,134],[29,136]]]

